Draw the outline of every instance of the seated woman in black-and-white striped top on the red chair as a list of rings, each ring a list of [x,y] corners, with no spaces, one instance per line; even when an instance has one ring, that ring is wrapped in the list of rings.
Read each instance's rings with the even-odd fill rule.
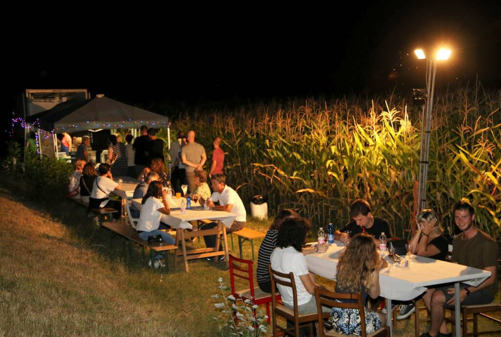
[[[259,247],[258,253],[258,270],[257,278],[259,287],[265,292],[272,292],[272,283],[270,280],[270,273],[268,272],[268,263],[270,263],[270,256],[272,255],[273,249],[277,247],[277,237],[285,219],[289,217],[297,217],[298,214],[292,209],[282,209],[275,216],[270,229],[268,229],[261,246]],[[318,247],[320,252],[324,252],[327,249],[327,244],[322,244]],[[317,251],[317,246],[303,248],[301,253],[303,255],[311,254]]]

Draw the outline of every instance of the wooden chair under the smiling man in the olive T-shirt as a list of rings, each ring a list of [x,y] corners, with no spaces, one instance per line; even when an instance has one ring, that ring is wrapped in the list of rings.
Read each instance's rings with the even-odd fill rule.
[[[489,304],[477,304],[477,305],[461,305],[461,314],[462,314],[462,319],[461,319],[461,326],[463,328],[463,337],[470,336],[470,335],[480,335],[480,334],[499,334],[501,333],[501,329],[494,330],[494,331],[478,331],[478,316],[484,317],[488,320],[497,322],[501,324],[501,320],[490,316],[486,313],[491,313],[491,312],[501,312],[501,259],[497,260],[497,279],[499,281],[499,296],[500,296],[500,302],[492,301]],[[454,311],[454,309],[451,309],[451,311]],[[469,314],[473,314],[472,318],[468,318]],[[454,316],[452,315],[452,326],[454,326]],[[473,332],[468,332],[468,321],[473,321]]]

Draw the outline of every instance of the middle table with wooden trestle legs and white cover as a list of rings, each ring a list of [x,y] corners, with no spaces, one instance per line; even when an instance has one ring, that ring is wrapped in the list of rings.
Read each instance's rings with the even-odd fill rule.
[[[141,199],[132,199],[132,202],[137,209],[141,210]],[[169,204],[172,203],[173,206],[177,206],[177,202],[181,202],[181,199],[169,199]],[[186,232],[186,229],[192,229],[193,225],[189,221],[197,220],[216,220],[217,227],[212,229],[203,230],[193,230]],[[186,209],[184,214],[177,207],[171,207],[170,214],[162,214],[161,221],[168,224],[176,230],[176,245],[181,245],[182,252],[176,251],[176,258],[174,263],[177,263],[177,257],[183,255],[184,267],[186,272],[188,272],[188,260],[194,258],[202,257],[212,257],[214,256],[214,261],[217,261],[217,256],[224,255],[226,267],[229,267],[228,259],[228,243],[226,240],[226,228],[231,227],[233,220],[235,219],[235,214],[230,212],[225,212],[221,210],[205,210],[201,206],[193,206],[191,209]],[[220,238],[219,235],[222,234],[223,239],[223,250],[219,251]],[[197,249],[186,249],[185,239],[190,237],[198,237],[205,235],[217,235],[216,246],[214,248],[197,248]]]

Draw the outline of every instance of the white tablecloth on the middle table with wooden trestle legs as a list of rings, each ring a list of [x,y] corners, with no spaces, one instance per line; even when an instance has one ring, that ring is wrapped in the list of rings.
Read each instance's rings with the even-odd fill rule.
[[[181,202],[181,199],[172,199],[174,207],[177,202]],[[134,205],[137,209],[141,210],[141,199],[132,199]],[[170,201],[169,201],[170,203]],[[163,223],[168,224],[174,229],[183,228],[183,229],[191,229],[193,226],[188,221],[195,220],[221,220],[221,222],[227,227],[231,227],[233,220],[235,219],[235,214],[230,212],[225,212],[221,210],[204,210],[201,206],[194,206],[192,209],[186,209],[186,213],[181,214],[181,210],[178,208],[171,208],[170,215],[162,214],[161,221]]]

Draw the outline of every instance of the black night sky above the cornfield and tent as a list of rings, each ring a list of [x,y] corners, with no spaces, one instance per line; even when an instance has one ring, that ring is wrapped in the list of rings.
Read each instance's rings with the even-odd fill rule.
[[[438,90],[477,74],[486,87],[499,87],[501,1],[351,2],[199,8],[197,14],[134,7],[113,15],[103,8],[43,19],[32,13],[23,20],[34,24],[18,22],[7,33],[8,98],[13,103],[27,88],[88,88],[93,96],[143,106],[370,96],[393,88],[409,95],[424,86],[425,62],[414,48],[441,43],[453,51],[439,65]]]

